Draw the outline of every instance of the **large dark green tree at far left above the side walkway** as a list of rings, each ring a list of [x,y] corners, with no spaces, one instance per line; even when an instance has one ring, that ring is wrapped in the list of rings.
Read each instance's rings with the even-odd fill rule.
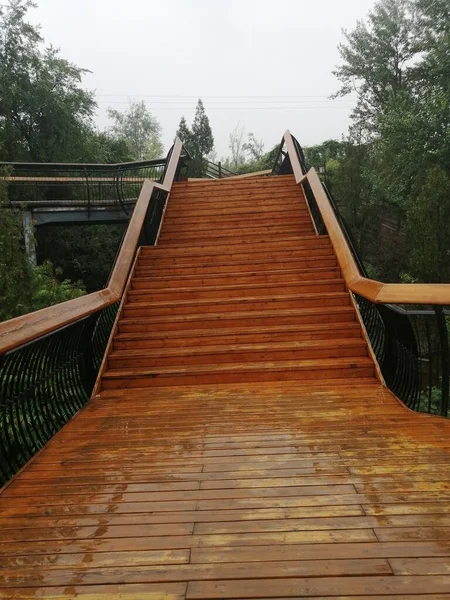
[[[0,7],[0,158],[80,160],[96,103],[80,87],[86,70],[43,48],[39,29],[25,20],[34,6]]]

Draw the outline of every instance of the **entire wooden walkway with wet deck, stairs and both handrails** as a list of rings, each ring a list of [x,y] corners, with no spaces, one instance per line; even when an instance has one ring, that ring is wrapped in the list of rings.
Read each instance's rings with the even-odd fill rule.
[[[448,286],[364,277],[289,133],[271,177],[177,182],[180,146],[107,289],[0,325],[12,373],[120,301],[91,401],[0,494],[0,598],[450,598],[450,422],[386,385],[409,401],[413,371],[379,358],[362,300]],[[45,379],[48,419],[80,356]]]

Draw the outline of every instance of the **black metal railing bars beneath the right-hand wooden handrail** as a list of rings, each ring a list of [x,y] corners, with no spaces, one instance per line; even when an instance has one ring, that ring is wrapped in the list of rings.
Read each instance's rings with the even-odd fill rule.
[[[291,138],[298,163],[306,176],[308,167],[303,150],[298,141]],[[274,173],[293,172],[285,148],[283,138]],[[318,235],[327,235],[308,177],[301,185]],[[350,228],[326,185],[323,182],[321,185],[360,275],[370,282]],[[450,310],[439,304],[378,303],[356,292],[352,294],[386,385],[412,410],[450,416]]]

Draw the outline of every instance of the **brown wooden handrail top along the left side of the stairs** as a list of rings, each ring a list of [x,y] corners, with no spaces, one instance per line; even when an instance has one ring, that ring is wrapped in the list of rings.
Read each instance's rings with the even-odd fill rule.
[[[182,148],[183,144],[177,138],[162,184],[150,179],[144,181],[108,286],[98,292],[61,302],[55,306],[49,306],[0,323],[0,355],[28,344],[52,331],[66,327],[79,319],[88,317],[121,299],[153,190],[160,189],[170,193]]]

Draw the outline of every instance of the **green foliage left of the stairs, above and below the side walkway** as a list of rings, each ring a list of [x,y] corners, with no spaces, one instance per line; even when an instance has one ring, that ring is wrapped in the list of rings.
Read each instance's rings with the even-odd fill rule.
[[[28,0],[0,6],[0,160],[110,163],[160,156],[160,127],[143,103],[114,114],[111,133],[95,130],[96,104],[81,87],[86,71],[45,48],[39,28],[26,20],[33,6]],[[41,228],[36,267],[25,252],[21,211],[6,208],[0,191],[0,319],[104,286],[122,226]]]

